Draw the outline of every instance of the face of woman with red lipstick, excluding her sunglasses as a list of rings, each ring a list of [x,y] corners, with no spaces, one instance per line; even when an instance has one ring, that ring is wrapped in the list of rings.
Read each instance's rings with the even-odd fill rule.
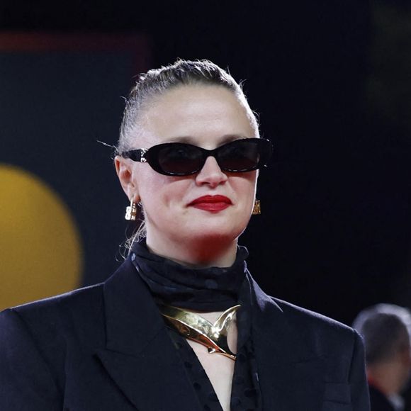
[[[235,94],[222,86],[179,86],[147,106],[133,148],[188,142],[212,150],[246,137],[258,137],[258,130]],[[223,172],[214,157],[191,176],[164,176],[130,159],[116,165],[129,198],[142,203],[147,244],[159,254],[168,255],[167,247],[236,242],[247,226],[257,171]],[[212,196],[212,203],[203,196]]]

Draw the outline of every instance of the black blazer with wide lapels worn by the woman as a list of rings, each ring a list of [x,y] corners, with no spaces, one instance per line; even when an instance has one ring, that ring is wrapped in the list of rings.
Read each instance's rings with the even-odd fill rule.
[[[264,411],[367,411],[351,328],[252,283]],[[126,260],[105,283],[0,313],[1,411],[200,411],[164,321]]]

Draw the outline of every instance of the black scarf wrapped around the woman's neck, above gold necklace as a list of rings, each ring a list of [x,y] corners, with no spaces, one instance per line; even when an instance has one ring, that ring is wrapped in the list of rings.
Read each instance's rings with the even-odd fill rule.
[[[176,307],[199,311],[227,310],[239,303],[249,272],[248,251],[237,247],[234,264],[227,268],[192,269],[150,253],[145,240],[135,242],[131,260],[154,298]]]

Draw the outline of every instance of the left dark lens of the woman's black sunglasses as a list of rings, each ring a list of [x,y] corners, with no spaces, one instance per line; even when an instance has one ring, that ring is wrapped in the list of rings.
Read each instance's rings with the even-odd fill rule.
[[[202,166],[201,151],[186,144],[164,145],[158,153],[159,167],[167,174],[184,176],[194,174]]]

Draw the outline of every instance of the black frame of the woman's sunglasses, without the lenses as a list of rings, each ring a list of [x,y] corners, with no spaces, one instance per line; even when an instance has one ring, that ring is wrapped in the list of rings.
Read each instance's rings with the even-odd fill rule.
[[[259,146],[260,158],[257,164],[252,168],[241,169],[241,170],[221,167],[220,160],[218,158],[218,152],[220,152],[220,150],[222,150],[223,147],[227,147],[227,145],[233,145],[238,142],[244,142],[244,141]],[[164,147],[170,147],[170,146],[175,147],[177,145],[182,145],[184,147],[186,146],[196,147],[196,150],[198,150],[202,154],[201,167],[193,171],[187,172],[187,173],[174,173],[171,171],[170,172],[164,171],[164,169],[162,169],[161,165],[159,164],[158,154]],[[266,165],[266,162],[268,162],[269,158],[271,157],[272,149],[273,147],[272,147],[271,142],[264,138],[242,138],[242,139],[237,139],[237,140],[227,142],[223,145],[220,145],[220,147],[216,147],[213,150],[207,150],[203,147],[198,147],[196,145],[188,144],[185,142],[165,142],[159,145],[153,145],[150,148],[137,148],[134,150],[128,150],[128,151],[120,153],[120,156],[124,158],[132,159],[135,162],[148,163],[150,164],[150,167],[154,171],[157,171],[157,173],[163,174],[164,176],[191,176],[192,174],[196,174],[199,171],[201,171],[201,169],[204,167],[205,161],[210,156],[215,158],[216,162],[218,163],[218,166],[220,167],[222,171],[228,171],[231,173],[245,173],[247,171],[253,171],[253,170],[259,169],[260,167]]]

